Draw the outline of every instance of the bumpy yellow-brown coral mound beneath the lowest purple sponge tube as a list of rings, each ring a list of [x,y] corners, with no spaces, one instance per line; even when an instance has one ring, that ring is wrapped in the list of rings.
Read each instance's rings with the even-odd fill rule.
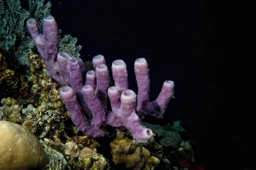
[[[110,146],[112,160],[116,165],[124,164],[132,170],[152,170],[160,163],[160,160],[150,156],[149,151],[141,144],[125,137],[125,133],[117,134]]]

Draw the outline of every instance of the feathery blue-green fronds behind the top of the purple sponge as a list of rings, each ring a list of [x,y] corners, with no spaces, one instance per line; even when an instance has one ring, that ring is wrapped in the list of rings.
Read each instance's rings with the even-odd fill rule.
[[[0,48],[14,51],[13,58],[20,64],[29,66],[28,54],[35,51],[35,43],[28,35],[24,24],[27,18],[36,18],[39,29],[43,30],[44,17],[49,16],[52,4],[44,0],[28,0],[28,10],[21,7],[19,0],[0,0]],[[59,30],[59,34],[61,34]],[[59,49],[68,54],[79,57],[81,45],[76,45],[77,38],[71,35],[59,36]]]

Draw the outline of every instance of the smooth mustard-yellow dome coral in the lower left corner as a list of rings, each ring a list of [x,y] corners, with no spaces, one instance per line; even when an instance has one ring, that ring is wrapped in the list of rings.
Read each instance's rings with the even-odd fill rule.
[[[49,164],[37,137],[20,125],[1,120],[0,141],[1,170],[35,170]]]

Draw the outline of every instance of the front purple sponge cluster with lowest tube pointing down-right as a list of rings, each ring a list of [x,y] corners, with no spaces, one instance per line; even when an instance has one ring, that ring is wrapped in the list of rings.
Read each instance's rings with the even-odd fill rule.
[[[135,112],[137,96],[134,91],[125,90],[120,96],[119,90],[112,86],[108,89],[108,96],[112,112],[107,115],[107,124],[114,127],[126,127],[137,143],[148,142],[154,134],[140,123],[140,117]]]

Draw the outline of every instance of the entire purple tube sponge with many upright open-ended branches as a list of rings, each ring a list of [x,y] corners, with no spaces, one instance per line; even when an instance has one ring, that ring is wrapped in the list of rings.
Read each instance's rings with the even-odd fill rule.
[[[149,101],[149,70],[144,58],[136,59],[134,72],[138,95],[128,89],[128,73],[123,60],[112,63],[114,86],[110,86],[109,71],[102,55],[93,57],[95,71],[87,71],[84,62],[70,57],[66,52],[58,53],[58,26],[52,16],[44,18],[44,33],[38,31],[35,19],[27,21],[29,32],[46,65],[47,76],[62,85],[60,96],[79,130],[93,137],[105,136],[107,125],[130,130],[137,143],[146,143],[154,135],[141,124],[145,116],[161,118],[174,94],[174,82],[163,83],[162,91],[154,102]],[[112,111],[107,110],[107,98]]]

